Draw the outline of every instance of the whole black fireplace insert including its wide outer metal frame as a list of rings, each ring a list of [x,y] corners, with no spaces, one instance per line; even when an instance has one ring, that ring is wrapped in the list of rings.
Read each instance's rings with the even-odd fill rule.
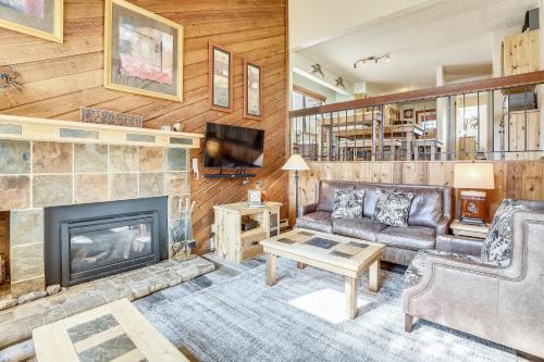
[[[47,208],[47,285],[75,284],[168,259],[168,198]]]

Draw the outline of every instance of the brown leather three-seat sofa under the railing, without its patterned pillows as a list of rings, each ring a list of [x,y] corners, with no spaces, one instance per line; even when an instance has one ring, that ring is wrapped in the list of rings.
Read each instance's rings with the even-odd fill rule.
[[[408,227],[387,226],[372,220],[379,188],[415,194]],[[336,189],[364,189],[362,219],[331,216]],[[382,260],[401,265],[408,265],[419,250],[434,249],[436,237],[445,235],[452,223],[449,187],[321,180],[316,200],[300,208],[297,227],[384,244]]]

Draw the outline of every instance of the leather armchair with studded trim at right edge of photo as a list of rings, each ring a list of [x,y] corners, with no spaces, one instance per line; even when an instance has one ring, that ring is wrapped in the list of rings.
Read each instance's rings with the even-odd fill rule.
[[[440,242],[463,255],[426,254],[403,295],[407,332],[417,316],[544,358],[544,202],[522,202],[531,211],[512,215],[508,266],[482,262],[482,242],[470,238]]]

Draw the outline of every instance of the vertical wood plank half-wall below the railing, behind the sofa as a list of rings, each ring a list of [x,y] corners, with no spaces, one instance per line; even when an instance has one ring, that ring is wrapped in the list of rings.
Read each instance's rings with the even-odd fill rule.
[[[455,163],[455,161],[309,162],[310,171],[300,173],[299,202],[300,204],[314,202],[319,179],[453,186]],[[544,200],[544,161],[495,161],[494,164],[495,189],[489,191],[489,221],[505,198]],[[294,183],[292,175],[289,179],[292,221],[295,219]],[[455,209],[458,215],[458,204]]]

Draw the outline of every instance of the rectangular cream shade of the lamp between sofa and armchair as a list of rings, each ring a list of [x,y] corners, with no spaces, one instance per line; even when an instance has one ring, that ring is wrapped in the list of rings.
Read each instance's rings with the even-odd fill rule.
[[[493,163],[456,163],[454,187],[468,189],[495,188]]]

